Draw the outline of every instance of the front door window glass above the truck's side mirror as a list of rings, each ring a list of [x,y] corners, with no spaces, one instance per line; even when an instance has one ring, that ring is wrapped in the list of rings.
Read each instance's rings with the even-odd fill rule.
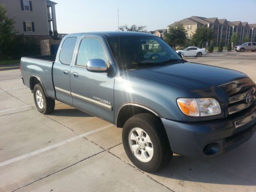
[[[82,39],[77,54],[76,65],[85,67],[87,61],[90,59],[102,59],[106,63],[109,62],[105,50],[100,40],[97,38]]]

